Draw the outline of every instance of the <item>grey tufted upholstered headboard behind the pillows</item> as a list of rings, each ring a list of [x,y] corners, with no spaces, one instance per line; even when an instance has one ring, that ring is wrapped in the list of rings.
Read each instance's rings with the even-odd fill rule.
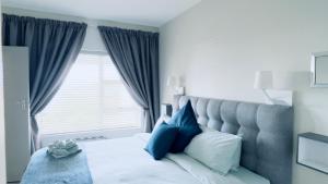
[[[292,107],[176,96],[174,111],[188,99],[198,123],[243,135],[242,167],[270,180],[271,184],[292,183]]]

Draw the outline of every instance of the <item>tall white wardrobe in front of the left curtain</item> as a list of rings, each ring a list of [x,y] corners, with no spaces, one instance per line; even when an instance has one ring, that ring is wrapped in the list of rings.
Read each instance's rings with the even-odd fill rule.
[[[31,157],[28,49],[2,47],[7,181],[19,182]]]

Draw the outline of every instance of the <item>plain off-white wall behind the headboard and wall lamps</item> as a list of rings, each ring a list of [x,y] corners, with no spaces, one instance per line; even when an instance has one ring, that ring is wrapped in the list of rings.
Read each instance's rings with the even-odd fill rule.
[[[168,75],[181,75],[187,95],[262,102],[254,75],[272,70],[277,88],[295,91],[295,135],[328,135],[328,88],[309,87],[311,52],[328,50],[327,7],[327,0],[203,0],[160,28],[161,91]],[[328,175],[294,163],[293,183],[328,183]]]

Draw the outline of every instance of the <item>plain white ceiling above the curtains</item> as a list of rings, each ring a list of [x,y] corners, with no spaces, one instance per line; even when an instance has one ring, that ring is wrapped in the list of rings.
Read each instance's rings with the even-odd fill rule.
[[[161,26],[201,0],[2,0],[26,10]]]

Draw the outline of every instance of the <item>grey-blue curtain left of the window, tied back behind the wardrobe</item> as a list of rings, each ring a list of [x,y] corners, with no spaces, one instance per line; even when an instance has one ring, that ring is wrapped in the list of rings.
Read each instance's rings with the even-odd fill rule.
[[[86,24],[3,14],[2,44],[30,49],[32,151],[39,148],[35,115],[59,89],[81,50]]]

